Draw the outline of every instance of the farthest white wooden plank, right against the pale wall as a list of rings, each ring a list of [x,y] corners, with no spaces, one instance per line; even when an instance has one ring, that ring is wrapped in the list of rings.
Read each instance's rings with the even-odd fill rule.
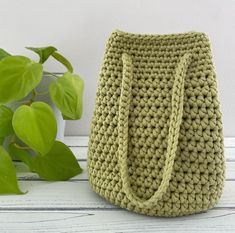
[[[87,146],[89,138],[88,136],[66,136],[65,143],[68,146]],[[235,137],[225,137],[224,138],[225,147],[235,147]]]

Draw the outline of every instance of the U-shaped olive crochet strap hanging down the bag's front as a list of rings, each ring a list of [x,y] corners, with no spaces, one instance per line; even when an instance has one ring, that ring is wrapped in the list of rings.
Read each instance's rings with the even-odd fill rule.
[[[191,61],[191,54],[185,53],[180,59],[175,68],[175,79],[172,88],[171,98],[171,116],[168,135],[168,146],[166,151],[165,165],[163,168],[162,181],[157,191],[148,200],[142,200],[131,189],[130,177],[128,173],[127,155],[128,155],[128,118],[129,107],[131,102],[131,89],[133,77],[133,64],[131,56],[127,53],[122,54],[123,73],[122,86],[119,102],[118,116],[118,163],[120,175],[123,184],[123,190],[131,203],[139,208],[151,208],[162,199],[169,187],[171,174],[176,155],[180,125],[183,116],[184,103],[184,78]]]

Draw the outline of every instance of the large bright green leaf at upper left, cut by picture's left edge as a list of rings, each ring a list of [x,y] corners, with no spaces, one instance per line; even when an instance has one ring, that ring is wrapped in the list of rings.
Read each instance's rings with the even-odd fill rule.
[[[10,56],[0,61],[0,104],[24,98],[42,78],[42,65],[27,57]]]

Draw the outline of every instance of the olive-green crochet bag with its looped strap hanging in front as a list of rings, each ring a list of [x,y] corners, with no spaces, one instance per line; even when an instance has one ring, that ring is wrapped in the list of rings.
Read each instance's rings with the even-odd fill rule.
[[[220,103],[204,33],[111,34],[88,148],[89,181],[137,213],[203,212],[224,185]]]

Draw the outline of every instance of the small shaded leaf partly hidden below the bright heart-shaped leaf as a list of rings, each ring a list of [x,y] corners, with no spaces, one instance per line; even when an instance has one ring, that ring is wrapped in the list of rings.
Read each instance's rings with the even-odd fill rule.
[[[24,149],[19,149],[16,147],[15,143],[11,143],[9,145],[9,153],[14,158],[19,159],[20,161],[24,162],[30,169],[30,171],[33,171],[33,156]]]

